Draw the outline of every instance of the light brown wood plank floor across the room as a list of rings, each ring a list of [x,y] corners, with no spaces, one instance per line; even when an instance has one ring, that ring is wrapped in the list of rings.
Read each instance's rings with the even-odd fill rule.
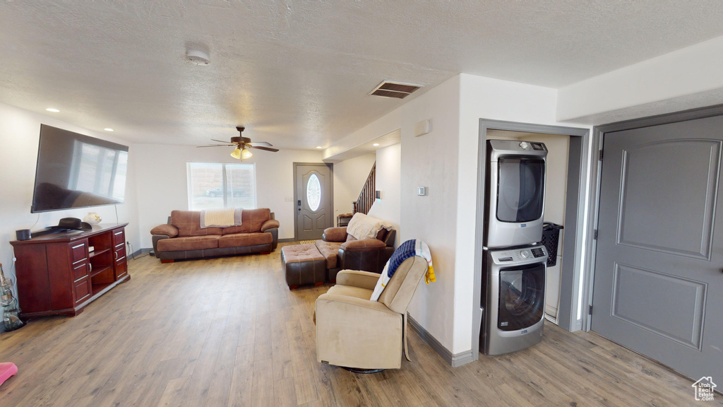
[[[318,364],[314,301],[266,256],[130,261],[132,279],[73,318],[0,334],[20,369],[0,406],[688,406],[688,379],[597,335],[547,324],[539,345],[451,368],[411,331],[402,369]],[[444,278],[437,272],[437,279]],[[706,406],[722,405],[723,397]],[[700,404],[700,403],[699,403]]]

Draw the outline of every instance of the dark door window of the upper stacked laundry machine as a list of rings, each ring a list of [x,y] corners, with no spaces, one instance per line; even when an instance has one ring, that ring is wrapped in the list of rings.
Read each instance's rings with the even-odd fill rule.
[[[542,217],[544,161],[500,157],[497,185],[497,219],[531,222]]]

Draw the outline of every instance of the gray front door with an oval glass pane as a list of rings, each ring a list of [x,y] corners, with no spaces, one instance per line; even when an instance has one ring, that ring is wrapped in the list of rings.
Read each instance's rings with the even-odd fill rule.
[[[294,164],[296,240],[320,239],[333,226],[333,190],[328,164]]]

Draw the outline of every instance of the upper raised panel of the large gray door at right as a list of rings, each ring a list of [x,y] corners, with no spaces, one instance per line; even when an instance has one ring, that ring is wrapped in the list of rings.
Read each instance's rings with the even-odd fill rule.
[[[718,140],[667,140],[623,151],[618,243],[709,259],[719,156]]]

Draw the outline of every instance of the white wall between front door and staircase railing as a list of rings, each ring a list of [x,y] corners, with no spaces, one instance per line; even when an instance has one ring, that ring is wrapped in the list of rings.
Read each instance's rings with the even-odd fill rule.
[[[369,153],[334,163],[334,222],[338,214],[351,213],[351,203],[359,198],[376,159],[376,154]]]

